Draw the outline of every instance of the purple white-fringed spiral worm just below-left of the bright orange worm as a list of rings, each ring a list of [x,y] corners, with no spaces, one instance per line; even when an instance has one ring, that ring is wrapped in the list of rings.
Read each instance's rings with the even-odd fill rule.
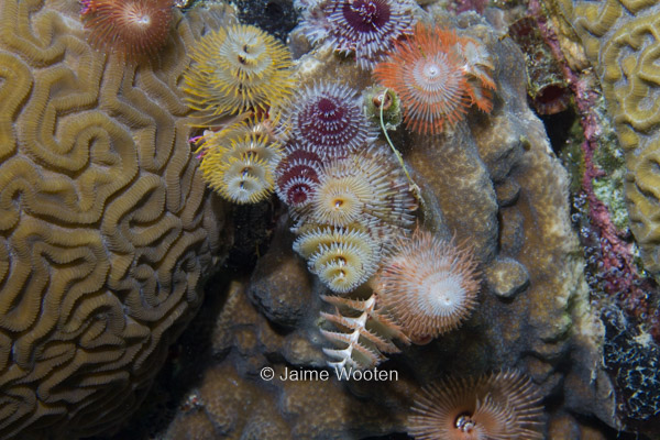
[[[345,157],[375,139],[358,91],[343,84],[320,82],[302,89],[284,111],[296,142],[321,158]]]

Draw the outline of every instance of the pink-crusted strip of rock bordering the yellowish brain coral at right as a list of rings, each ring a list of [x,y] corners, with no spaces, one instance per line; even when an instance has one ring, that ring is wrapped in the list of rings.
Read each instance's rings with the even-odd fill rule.
[[[541,13],[538,0],[529,3],[530,15],[548,47],[557,59],[563,59],[558,36]],[[581,145],[583,169],[581,188],[574,198],[574,208],[585,216],[580,218],[580,238],[585,246],[587,282],[594,292],[605,294],[623,308],[628,317],[644,322],[647,331],[660,343],[660,312],[653,301],[658,288],[645,277],[635,262],[635,249],[627,228],[622,230],[613,221],[613,213],[594,191],[594,182],[608,177],[600,166],[596,154],[603,148],[603,116],[598,113],[600,95],[593,89],[592,79],[561,63],[563,76],[569,84],[580,116],[584,135]]]

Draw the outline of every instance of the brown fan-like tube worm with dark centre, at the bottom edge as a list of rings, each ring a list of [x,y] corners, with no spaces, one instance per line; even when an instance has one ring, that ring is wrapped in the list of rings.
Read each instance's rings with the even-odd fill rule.
[[[422,388],[408,433],[418,440],[540,440],[540,400],[531,381],[516,372],[447,378]]]

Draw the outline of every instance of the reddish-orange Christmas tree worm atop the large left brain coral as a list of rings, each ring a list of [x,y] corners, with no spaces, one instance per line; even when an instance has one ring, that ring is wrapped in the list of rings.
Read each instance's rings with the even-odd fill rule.
[[[165,45],[173,7],[173,0],[86,0],[81,15],[95,47],[135,61]]]

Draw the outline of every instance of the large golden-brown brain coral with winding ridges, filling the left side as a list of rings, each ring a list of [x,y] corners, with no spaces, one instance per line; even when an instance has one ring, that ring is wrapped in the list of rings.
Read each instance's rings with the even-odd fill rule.
[[[55,9],[55,8],[59,9]],[[75,439],[131,414],[200,301],[220,212],[177,88],[86,42],[76,1],[0,0],[0,438]]]

